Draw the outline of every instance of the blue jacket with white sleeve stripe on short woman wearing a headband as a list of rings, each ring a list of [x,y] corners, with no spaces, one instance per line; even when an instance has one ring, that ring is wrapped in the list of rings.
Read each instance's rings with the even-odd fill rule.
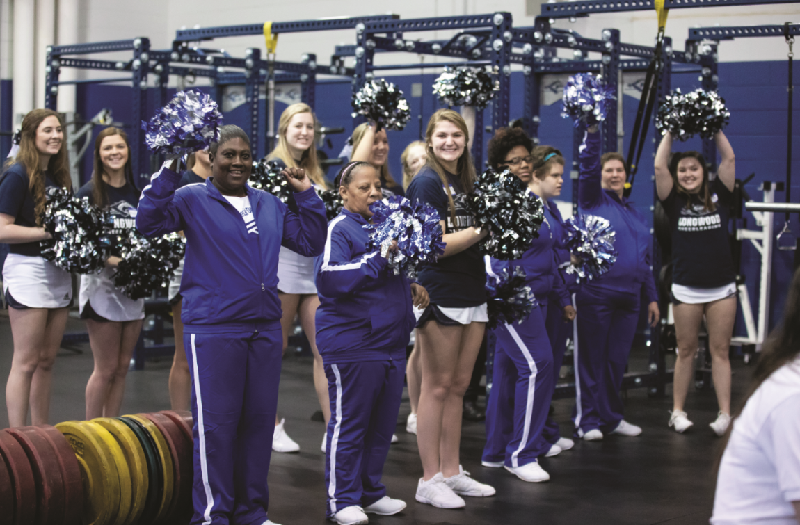
[[[414,329],[409,280],[366,252],[364,217],[342,209],[315,261],[317,346],[326,363],[405,359]]]

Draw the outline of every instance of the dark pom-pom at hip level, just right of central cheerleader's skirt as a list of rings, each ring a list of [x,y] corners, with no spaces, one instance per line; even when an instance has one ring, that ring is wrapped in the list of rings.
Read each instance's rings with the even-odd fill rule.
[[[538,306],[534,292],[525,285],[526,275],[519,266],[509,273],[503,268],[496,276],[486,276],[486,312],[489,315],[489,327],[500,323],[511,324],[525,320],[530,312]]]

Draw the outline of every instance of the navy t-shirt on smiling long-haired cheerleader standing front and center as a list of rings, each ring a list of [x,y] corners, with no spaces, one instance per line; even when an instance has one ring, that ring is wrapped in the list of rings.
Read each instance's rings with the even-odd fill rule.
[[[457,177],[447,173],[447,178],[450,188],[445,189],[438,174],[424,166],[408,186],[406,197],[411,202],[424,202],[436,209],[439,217],[445,220],[444,233],[460,232],[472,226],[472,214],[456,200],[453,224],[445,191],[450,191],[453,197],[464,191]],[[442,308],[471,308],[486,302],[486,268],[477,244],[426,266],[418,278],[428,291],[430,302]]]

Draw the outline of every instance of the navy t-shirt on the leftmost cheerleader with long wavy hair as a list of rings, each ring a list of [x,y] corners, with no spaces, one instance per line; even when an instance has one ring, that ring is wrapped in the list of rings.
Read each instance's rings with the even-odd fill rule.
[[[28,172],[22,164],[11,165],[0,177],[0,213],[14,217],[14,224],[18,226],[36,226],[36,206],[29,185]],[[50,175],[45,173],[45,187],[54,186]],[[39,241],[8,245],[8,251],[28,257],[42,256]]]

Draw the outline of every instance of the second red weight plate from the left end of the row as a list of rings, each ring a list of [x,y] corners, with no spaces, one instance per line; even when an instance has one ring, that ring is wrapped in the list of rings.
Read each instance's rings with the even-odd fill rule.
[[[60,525],[64,517],[64,482],[58,455],[36,427],[6,428],[6,432],[25,449],[34,471],[37,525]]]

